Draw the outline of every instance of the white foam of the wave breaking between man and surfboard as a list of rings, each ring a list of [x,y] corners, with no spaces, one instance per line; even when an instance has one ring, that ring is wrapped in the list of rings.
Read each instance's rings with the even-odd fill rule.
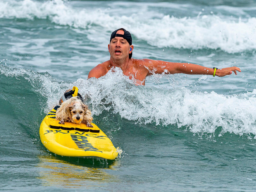
[[[48,73],[0,65],[1,74],[25,78],[36,92],[47,98],[45,113],[66,89],[77,86],[94,116],[111,111],[134,123],[175,124],[194,133],[214,133],[221,126],[219,136],[226,132],[256,134],[256,89],[238,95],[222,95],[213,91],[191,92],[185,87],[166,90],[136,86],[121,69],[115,70],[98,79],[80,78],[74,83],[58,83]]]

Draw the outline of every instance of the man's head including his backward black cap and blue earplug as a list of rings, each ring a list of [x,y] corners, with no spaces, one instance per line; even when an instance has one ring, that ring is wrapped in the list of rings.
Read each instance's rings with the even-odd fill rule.
[[[108,44],[108,52],[114,60],[125,59],[129,56],[132,58],[132,36],[124,28],[113,31]]]

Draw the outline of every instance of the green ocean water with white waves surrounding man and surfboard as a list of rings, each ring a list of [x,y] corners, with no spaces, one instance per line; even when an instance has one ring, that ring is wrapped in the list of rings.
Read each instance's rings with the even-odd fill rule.
[[[0,28],[0,191],[256,190],[255,0],[0,0]],[[242,72],[87,80],[117,28],[133,58]],[[41,121],[73,86],[116,160],[42,145]]]

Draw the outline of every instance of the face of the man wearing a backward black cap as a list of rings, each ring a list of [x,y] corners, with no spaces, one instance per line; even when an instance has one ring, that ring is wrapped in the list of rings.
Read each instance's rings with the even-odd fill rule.
[[[124,31],[118,30],[116,34],[124,35]],[[115,37],[111,39],[110,44],[108,44],[108,52],[113,60],[124,60],[127,57],[129,58],[129,49],[130,44],[123,37]]]

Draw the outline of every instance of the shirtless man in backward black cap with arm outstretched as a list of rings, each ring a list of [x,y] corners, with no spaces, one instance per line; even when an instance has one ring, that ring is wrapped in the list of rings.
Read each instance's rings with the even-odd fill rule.
[[[124,28],[115,30],[110,37],[108,44],[108,52],[110,59],[96,67],[94,67],[88,75],[88,78],[99,78],[108,73],[113,67],[122,69],[123,74],[133,79],[134,84],[145,85],[146,76],[156,74],[174,74],[185,73],[194,75],[217,75],[219,77],[232,74],[232,71],[237,75],[236,71],[241,72],[237,67],[229,68],[206,68],[200,65],[191,63],[175,63],[161,60],[150,59],[132,59],[132,36],[129,31]]]

